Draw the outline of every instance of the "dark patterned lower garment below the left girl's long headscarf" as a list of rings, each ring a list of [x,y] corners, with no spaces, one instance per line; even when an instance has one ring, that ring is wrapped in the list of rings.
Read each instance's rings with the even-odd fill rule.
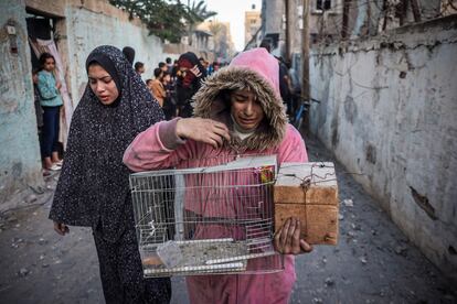
[[[105,301],[117,303],[170,303],[169,278],[145,279],[135,228],[127,228],[116,242],[94,231]]]

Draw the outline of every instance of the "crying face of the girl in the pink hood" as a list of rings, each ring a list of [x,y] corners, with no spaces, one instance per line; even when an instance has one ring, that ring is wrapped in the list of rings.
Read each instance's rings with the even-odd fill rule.
[[[248,89],[235,90],[230,95],[231,113],[236,123],[244,130],[255,130],[264,119],[257,96]]]

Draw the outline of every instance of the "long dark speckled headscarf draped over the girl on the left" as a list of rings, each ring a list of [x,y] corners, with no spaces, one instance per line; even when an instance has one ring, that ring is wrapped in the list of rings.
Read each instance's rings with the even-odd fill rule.
[[[116,241],[126,225],[134,225],[124,151],[163,112],[120,50],[98,46],[87,68],[94,63],[115,79],[119,97],[105,106],[87,85],[73,115],[50,218],[71,226],[100,225],[103,237]]]

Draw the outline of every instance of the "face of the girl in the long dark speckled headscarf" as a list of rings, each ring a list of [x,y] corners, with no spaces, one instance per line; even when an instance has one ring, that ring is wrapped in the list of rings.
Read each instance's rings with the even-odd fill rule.
[[[100,65],[92,64],[87,74],[91,89],[102,104],[111,105],[119,97],[116,83]]]

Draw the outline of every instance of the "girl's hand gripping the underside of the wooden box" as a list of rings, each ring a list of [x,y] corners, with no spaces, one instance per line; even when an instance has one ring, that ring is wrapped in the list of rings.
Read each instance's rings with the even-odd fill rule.
[[[275,250],[283,254],[300,254],[312,251],[312,246],[300,239],[300,221],[288,218],[275,234]]]

